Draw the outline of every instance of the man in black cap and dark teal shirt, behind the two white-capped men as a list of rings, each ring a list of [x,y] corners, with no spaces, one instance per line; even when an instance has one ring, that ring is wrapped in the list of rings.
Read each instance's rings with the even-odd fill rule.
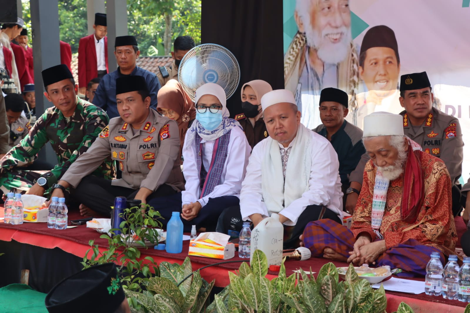
[[[357,192],[349,187],[349,174],[356,168],[366,151],[362,144],[362,130],[345,121],[348,115],[348,95],[336,88],[325,88],[320,95],[320,119],[322,124],[313,131],[326,137],[335,149],[339,160],[339,176],[343,191],[343,209],[346,194]]]

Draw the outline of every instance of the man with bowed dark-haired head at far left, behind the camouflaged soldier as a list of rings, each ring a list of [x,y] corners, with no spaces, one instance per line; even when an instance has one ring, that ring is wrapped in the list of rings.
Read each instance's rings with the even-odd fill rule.
[[[18,93],[10,93],[5,97],[5,110],[8,124],[10,125],[10,149],[20,143],[21,139],[28,135],[31,125],[26,117],[21,115],[25,106],[23,96]]]

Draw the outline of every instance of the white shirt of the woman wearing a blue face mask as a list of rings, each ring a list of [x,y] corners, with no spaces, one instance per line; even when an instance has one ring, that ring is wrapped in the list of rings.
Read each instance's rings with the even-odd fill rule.
[[[236,196],[240,197],[240,190],[242,189],[242,181],[245,177],[246,166],[248,165],[248,158],[250,157],[251,147],[246,139],[243,130],[239,127],[234,127],[230,132],[230,141],[227,147],[227,159],[225,160],[222,169],[222,176],[220,184],[214,190],[206,195],[204,198],[199,198],[201,195],[200,180],[197,173],[196,153],[199,153],[199,147],[196,150],[195,142],[192,145],[187,145],[186,136],[183,145],[183,175],[186,179],[185,191],[181,191],[182,205],[198,201],[201,206],[205,206],[209,198],[217,198],[222,196]],[[204,168],[208,169],[211,164],[212,150],[215,141],[201,140],[202,144],[202,162]]]

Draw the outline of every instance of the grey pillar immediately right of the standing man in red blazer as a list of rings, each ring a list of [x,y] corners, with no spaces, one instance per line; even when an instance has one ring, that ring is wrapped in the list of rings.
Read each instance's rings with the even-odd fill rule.
[[[127,1],[107,0],[108,22],[108,68],[110,72],[118,68],[114,57],[114,42],[117,36],[127,35]]]

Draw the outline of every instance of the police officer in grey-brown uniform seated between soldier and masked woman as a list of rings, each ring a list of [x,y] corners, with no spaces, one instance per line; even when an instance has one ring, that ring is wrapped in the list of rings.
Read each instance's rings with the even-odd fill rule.
[[[62,197],[65,188],[74,187],[71,195],[82,203],[82,215],[109,215],[117,196],[147,203],[184,188],[180,160],[177,160],[178,125],[149,108],[144,77],[119,77],[116,99],[120,116],[110,120],[87,152],[53,186],[52,196],[57,197]],[[118,163],[122,178],[106,180],[88,176],[109,155]]]

